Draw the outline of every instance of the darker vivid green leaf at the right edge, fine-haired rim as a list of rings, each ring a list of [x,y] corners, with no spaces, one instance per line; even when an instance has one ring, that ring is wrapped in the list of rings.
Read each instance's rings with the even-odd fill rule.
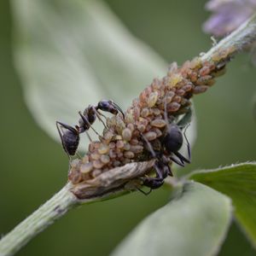
[[[193,172],[189,178],[230,196],[237,222],[256,247],[256,163]]]

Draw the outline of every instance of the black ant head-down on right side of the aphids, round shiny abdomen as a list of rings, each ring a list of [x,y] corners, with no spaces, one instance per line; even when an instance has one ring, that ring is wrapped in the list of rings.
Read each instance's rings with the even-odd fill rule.
[[[190,113],[189,113],[190,114]],[[165,113],[165,118],[166,113]],[[187,118],[186,116],[184,118]],[[180,124],[180,125],[179,125]],[[156,172],[156,177],[143,177],[143,185],[150,188],[148,192],[143,192],[144,195],[148,195],[152,189],[158,189],[164,183],[165,178],[169,175],[172,176],[172,170],[169,166],[170,161],[174,161],[179,166],[184,166],[185,163],[190,163],[191,160],[191,149],[189,140],[186,137],[186,130],[182,132],[182,122],[178,122],[177,124],[173,123],[172,125],[167,126],[166,135],[160,139],[160,143],[162,147],[159,151],[155,151],[152,145],[148,142],[146,137],[143,137],[145,143],[147,143],[148,151],[151,153],[152,157],[156,159],[154,163],[154,170]],[[187,149],[189,154],[189,159],[185,158],[182,154],[178,152],[178,150],[183,146],[183,135],[185,137],[187,143]],[[175,156],[177,157],[175,157]]]

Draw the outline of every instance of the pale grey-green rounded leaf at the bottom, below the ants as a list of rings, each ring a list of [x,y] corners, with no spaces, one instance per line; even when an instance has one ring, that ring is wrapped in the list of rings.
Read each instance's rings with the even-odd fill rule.
[[[231,212],[227,196],[200,183],[186,183],[180,195],[144,219],[112,256],[215,255]]]

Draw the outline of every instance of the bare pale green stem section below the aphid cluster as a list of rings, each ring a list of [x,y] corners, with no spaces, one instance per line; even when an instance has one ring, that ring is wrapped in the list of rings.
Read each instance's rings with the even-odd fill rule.
[[[0,241],[0,255],[13,255],[26,245],[32,237],[45,230],[55,220],[77,205],[77,199],[69,191],[70,183],[55,194],[42,207],[18,224]]]

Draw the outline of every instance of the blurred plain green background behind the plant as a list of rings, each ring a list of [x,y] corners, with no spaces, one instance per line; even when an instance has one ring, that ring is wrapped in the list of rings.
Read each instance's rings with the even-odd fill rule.
[[[201,25],[205,1],[106,0],[128,29],[166,61],[193,58],[211,47]],[[0,2],[0,233],[4,235],[67,181],[67,155],[26,108],[12,53],[9,1]],[[145,84],[141,85],[143,90]],[[206,94],[194,98],[198,137],[192,164],[180,172],[255,160],[255,67],[240,55]],[[90,102],[88,102],[90,103]],[[165,188],[80,207],[17,255],[108,255],[137,223],[169,198]],[[148,234],[150,236],[150,234]],[[220,255],[255,255],[236,224]]]

